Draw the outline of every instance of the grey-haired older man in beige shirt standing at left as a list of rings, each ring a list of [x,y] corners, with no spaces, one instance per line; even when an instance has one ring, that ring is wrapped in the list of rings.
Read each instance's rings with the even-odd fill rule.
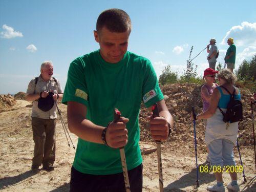
[[[59,81],[52,77],[53,65],[51,61],[41,64],[41,74],[33,78],[27,89],[27,100],[33,101],[32,130],[34,139],[33,170],[42,168],[54,170],[55,161],[55,130],[57,108],[56,101],[62,98],[63,91]]]

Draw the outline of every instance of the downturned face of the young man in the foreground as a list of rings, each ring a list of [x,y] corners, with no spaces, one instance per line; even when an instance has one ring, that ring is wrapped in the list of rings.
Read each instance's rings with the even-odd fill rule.
[[[100,32],[94,31],[95,40],[100,46],[100,55],[106,62],[119,62],[128,48],[129,31],[111,32],[103,27]]]

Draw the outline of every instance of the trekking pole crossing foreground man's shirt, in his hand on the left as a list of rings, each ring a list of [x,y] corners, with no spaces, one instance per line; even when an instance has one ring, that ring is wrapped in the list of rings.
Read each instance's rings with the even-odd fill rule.
[[[121,118],[121,112],[118,111],[118,109],[115,108],[114,110],[114,122],[120,121]],[[124,179],[124,185],[126,192],[130,192],[130,183],[129,183],[129,176],[127,171],[127,165],[126,165],[126,159],[125,159],[125,153],[124,153],[124,146],[119,148],[120,156],[121,156],[121,162],[122,162],[122,169],[123,169],[123,179]]]

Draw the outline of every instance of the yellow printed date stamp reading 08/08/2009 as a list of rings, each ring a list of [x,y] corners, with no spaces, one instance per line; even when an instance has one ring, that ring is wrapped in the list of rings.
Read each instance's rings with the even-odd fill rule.
[[[227,172],[227,173],[242,173],[243,172],[243,166],[242,165],[224,165],[222,166],[216,166],[216,165],[204,165],[204,166],[199,166],[199,172],[200,173],[210,173],[210,172],[214,172],[214,173],[223,173],[223,172]]]

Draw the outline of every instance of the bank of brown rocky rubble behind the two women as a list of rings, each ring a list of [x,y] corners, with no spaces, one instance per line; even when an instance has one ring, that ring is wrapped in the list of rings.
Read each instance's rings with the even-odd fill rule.
[[[164,99],[169,112],[175,120],[175,129],[170,140],[178,140],[179,142],[193,142],[194,127],[190,119],[191,107],[195,106],[196,112],[202,113],[203,102],[201,99],[202,85],[195,83],[175,83],[161,87]],[[250,110],[249,97],[252,93],[249,90],[240,88],[244,120],[239,123],[239,143],[242,145],[252,145],[252,114]],[[147,109],[141,107],[139,123],[140,123],[140,139],[143,141],[151,140],[150,131],[147,129],[148,121]],[[204,146],[205,128],[203,121],[197,121],[196,124],[197,139],[199,145]]]

